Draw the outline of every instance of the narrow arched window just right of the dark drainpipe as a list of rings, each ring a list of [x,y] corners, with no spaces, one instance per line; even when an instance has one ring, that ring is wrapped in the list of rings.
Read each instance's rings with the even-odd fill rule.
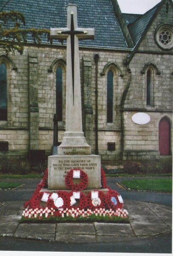
[[[113,123],[113,72],[108,71],[107,76],[107,122]]]

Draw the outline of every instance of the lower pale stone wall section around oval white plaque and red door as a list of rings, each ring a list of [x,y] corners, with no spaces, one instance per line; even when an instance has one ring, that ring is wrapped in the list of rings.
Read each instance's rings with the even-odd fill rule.
[[[172,114],[167,112],[145,112],[150,116],[150,122],[138,125],[132,121],[136,111],[124,112],[124,153],[123,158],[127,160],[154,160],[162,159],[159,153],[159,121],[167,117],[171,125],[172,148]],[[168,157],[168,156],[167,156]]]

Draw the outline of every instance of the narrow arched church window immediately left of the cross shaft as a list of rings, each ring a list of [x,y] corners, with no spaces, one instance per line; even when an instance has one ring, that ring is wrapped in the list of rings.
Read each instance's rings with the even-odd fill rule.
[[[56,114],[58,122],[62,122],[62,68],[56,70]]]

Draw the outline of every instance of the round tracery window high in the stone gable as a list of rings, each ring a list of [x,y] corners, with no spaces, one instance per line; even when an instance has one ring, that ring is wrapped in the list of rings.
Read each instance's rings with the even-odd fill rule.
[[[173,27],[170,24],[162,24],[156,29],[156,44],[165,50],[173,48]]]

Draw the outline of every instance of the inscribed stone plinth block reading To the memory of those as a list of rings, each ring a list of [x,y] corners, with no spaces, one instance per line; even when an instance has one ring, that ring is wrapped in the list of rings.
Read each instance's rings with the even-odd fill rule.
[[[88,175],[86,189],[101,188],[101,157],[96,155],[55,155],[48,157],[48,189],[65,190],[65,176],[71,169],[82,169]],[[78,183],[80,179],[74,178]]]

